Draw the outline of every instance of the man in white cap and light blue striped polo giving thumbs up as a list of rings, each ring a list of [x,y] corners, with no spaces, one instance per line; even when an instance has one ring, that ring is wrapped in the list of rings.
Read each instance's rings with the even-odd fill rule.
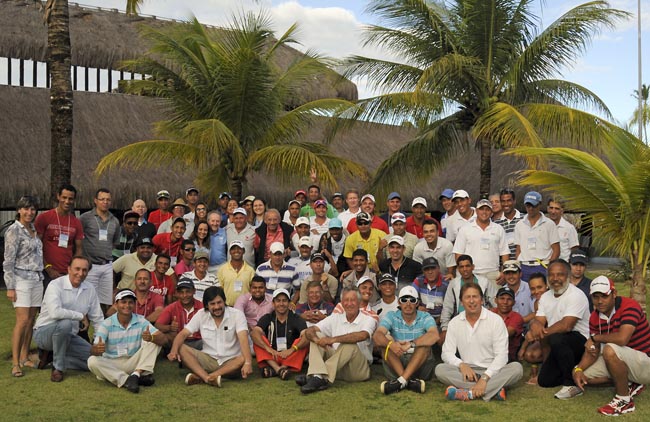
[[[106,380],[132,393],[140,386],[153,385],[153,368],[160,346],[166,339],[142,315],[133,313],[135,293],[129,289],[115,294],[117,312],[104,320],[95,333],[88,369],[97,379]]]

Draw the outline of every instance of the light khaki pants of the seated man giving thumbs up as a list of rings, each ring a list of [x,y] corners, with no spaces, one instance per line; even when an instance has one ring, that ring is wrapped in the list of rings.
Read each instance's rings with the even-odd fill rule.
[[[126,379],[135,370],[141,370],[141,375],[153,373],[156,364],[156,356],[160,352],[160,346],[155,343],[143,341],[140,349],[133,356],[120,358],[105,358],[103,356],[91,356],[88,358],[88,369],[95,374],[97,379],[108,381],[121,387]]]

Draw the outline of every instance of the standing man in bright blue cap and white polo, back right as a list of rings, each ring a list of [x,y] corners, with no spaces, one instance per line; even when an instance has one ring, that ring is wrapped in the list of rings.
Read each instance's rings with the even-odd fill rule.
[[[539,210],[541,203],[539,192],[528,192],[524,197],[526,217],[515,226],[515,254],[525,282],[533,273],[546,274],[548,263],[560,256],[557,226]]]

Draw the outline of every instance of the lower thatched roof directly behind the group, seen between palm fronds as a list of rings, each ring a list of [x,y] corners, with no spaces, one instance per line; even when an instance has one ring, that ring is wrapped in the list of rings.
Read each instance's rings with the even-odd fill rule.
[[[0,168],[5,182],[0,184],[0,208],[13,208],[23,194],[37,195],[43,206],[48,197],[50,174],[50,134],[48,90],[0,86]],[[165,169],[149,172],[113,171],[100,180],[93,171],[108,152],[129,143],[151,139],[152,123],[164,117],[156,99],[124,94],[75,92],[72,183],[79,189],[77,205],[88,208],[99,187],[115,192],[114,206],[127,208],[133,199],[144,198],[151,206],[155,193],[168,189],[173,196],[181,195],[192,184],[194,173],[170,173]],[[323,128],[315,127],[307,136],[309,140],[322,139]],[[335,153],[353,159],[369,171],[393,151],[403,145],[412,133],[408,129],[386,125],[363,125],[340,134],[331,144]],[[400,188],[405,202],[415,196],[429,200],[430,208],[437,205],[437,197],[445,187],[464,188],[478,198],[478,154],[470,151],[452,160],[447,168],[424,185]],[[508,184],[508,175],[521,168],[512,158],[493,159],[493,191]],[[246,189],[268,200],[269,204],[285,208],[293,192],[309,183],[308,175],[296,186],[278,186],[273,179],[253,175]],[[341,190],[357,187],[358,183],[345,182]],[[324,192],[328,196],[331,192]],[[523,195],[519,194],[519,198]],[[378,205],[385,203],[377,198]]]

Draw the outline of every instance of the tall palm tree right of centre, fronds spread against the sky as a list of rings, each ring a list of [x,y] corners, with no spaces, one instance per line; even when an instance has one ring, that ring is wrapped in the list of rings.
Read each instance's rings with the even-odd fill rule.
[[[534,1],[371,1],[369,12],[386,26],[369,26],[365,43],[396,60],[346,61],[345,76],[365,78],[384,94],[358,102],[338,126],[407,120],[417,128],[416,136],[379,166],[373,190],[384,192],[390,185],[394,190],[399,180],[424,181],[448,158],[475,146],[485,197],[493,149],[541,146],[558,138],[597,142],[593,135],[601,128],[594,117],[565,105],[588,106],[610,118],[605,104],[588,89],[552,76],[578,57],[600,27],[612,27],[628,14],[593,1],[539,32]]]

